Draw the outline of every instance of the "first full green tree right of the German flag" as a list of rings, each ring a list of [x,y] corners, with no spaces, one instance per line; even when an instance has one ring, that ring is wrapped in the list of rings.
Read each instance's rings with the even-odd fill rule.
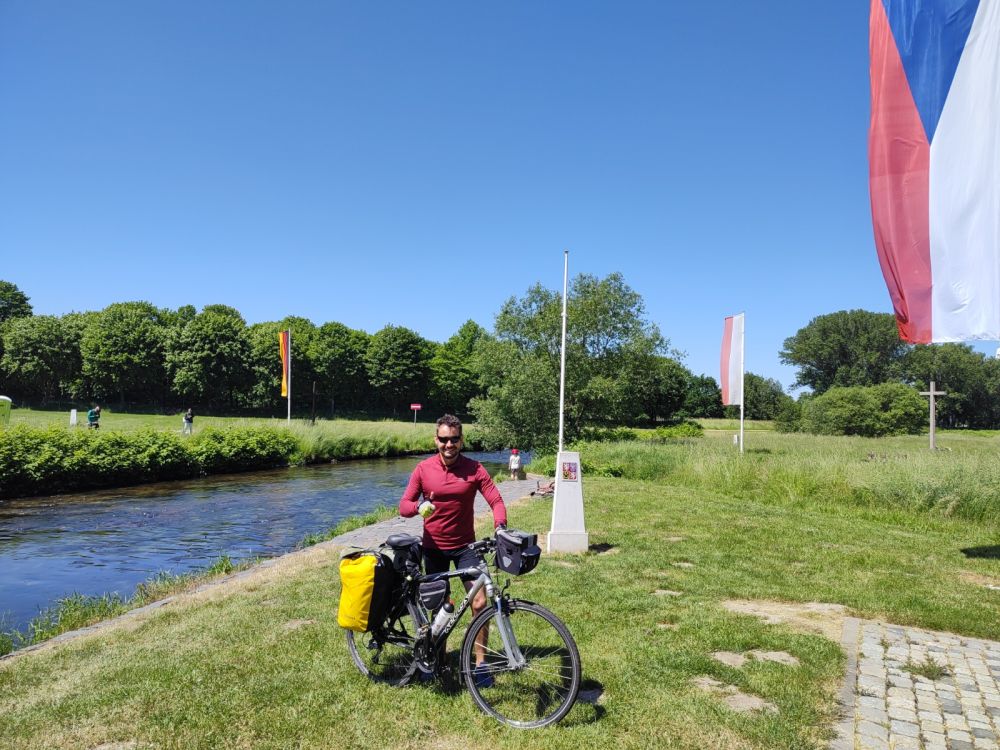
[[[364,331],[343,323],[324,323],[313,339],[310,359],[316,368],[319,387],[330,400],[331,411],[364,409],[371,397],[365,352],[371,339]]]

